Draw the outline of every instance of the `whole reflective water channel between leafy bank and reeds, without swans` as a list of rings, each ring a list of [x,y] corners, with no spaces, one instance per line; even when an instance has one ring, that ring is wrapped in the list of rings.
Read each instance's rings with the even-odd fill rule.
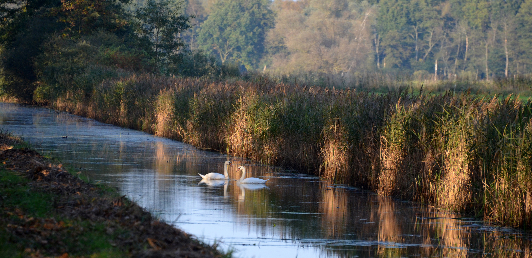
[[[532,257],[529,233],[67,113],[0,104],[0,127],[238,257]]]

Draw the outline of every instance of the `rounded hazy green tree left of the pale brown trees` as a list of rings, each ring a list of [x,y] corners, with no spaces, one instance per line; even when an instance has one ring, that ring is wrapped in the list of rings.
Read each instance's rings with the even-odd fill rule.
[[[274,15],[268,0],[219,0],[201,25],[198,44],[223,63],[234,61],[256,67],[264,54],[266,32]]]

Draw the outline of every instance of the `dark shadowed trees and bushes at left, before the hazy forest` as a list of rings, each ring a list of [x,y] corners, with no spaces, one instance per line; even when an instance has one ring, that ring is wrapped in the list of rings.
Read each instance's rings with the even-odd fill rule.
[[[22,102],[89,97],[134,73],[219,76],[190,51],[190,15],[170,0],[0,0],[0,94]]]

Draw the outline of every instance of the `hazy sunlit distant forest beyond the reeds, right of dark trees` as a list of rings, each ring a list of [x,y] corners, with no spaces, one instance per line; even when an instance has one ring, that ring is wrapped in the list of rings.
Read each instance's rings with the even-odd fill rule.
[[[195,16],[182,33],[190,49],[248,70],[429,78],[437,67],[440,78],[478,80],[532,71],[532,0],[186,0],[184,7]]]

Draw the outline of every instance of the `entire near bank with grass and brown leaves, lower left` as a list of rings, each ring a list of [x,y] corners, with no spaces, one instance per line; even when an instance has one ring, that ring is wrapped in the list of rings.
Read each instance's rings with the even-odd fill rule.
[[[0,134],[0,256],[226,257]],[[14,148],[13,148],[14,147]]]

